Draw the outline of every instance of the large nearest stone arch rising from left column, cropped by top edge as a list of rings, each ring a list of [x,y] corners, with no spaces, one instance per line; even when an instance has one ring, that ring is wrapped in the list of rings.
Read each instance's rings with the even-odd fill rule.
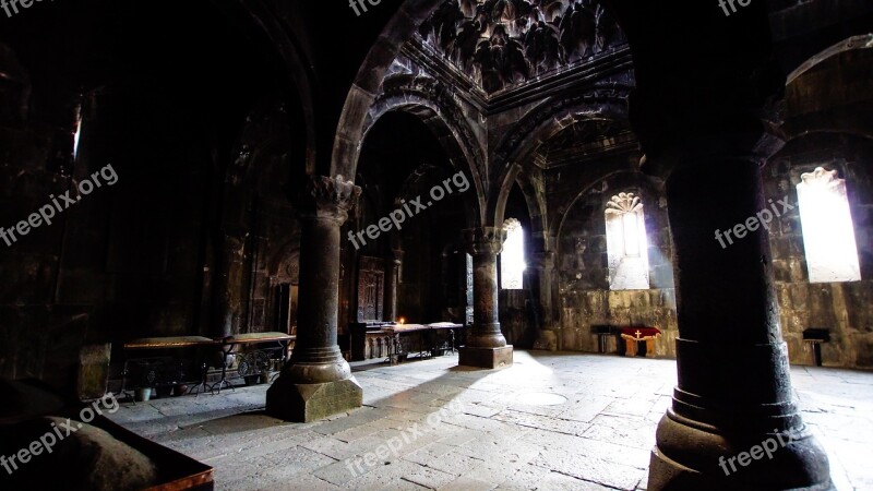
[[[348,97],[343,107],[343,115],[337,125],[334,151],[331,158],[331,175],[354,176],[357,167],[357,155],[360,151],[367,128],[366,120],[369,108],[376,99],[380,86],[385,80],[388,68],[400,51],[400,48],[411,38],[418,26],[444,0],[409,0],[404,2],[397,13],[382,31],[379,40],[370,49],[363,60],[355,84],[350,87]],[[612,12],[619,25],[622,26],[629,39],[631,49],[637,38],[636,19],[639,15],[638,5],[627,0],[601,0],[603,7]]]

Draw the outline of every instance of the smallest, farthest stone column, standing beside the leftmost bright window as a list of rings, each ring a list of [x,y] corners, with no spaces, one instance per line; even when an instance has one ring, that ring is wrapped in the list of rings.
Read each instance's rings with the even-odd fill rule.
[[[512,364],[512,346],[500,331],[498,309],[498,254],[503,250],[506,231],[481,227],[464,230],[467,250],[473,256],[473,316],[467,346],[459,349],[459,364],[503,368]]]

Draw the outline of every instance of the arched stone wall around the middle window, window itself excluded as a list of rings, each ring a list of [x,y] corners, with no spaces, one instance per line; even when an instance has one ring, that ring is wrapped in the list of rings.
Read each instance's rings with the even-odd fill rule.
[[[648,290],[611,291],[606,237],[606,203],[619,192],[642,195],[648,238]],[[675,356],[675,291],[666,200],[646,178],[620,172],[591,185],[567,212],[558,241],[561,349],[597,352],[594,326],[658,327],[657,356]],[[615,352],[611,338],[608,352]]]

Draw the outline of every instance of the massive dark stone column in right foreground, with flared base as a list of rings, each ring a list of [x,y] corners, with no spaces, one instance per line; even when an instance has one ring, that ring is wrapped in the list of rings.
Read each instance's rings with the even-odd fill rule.
[[[832,489],[792,398],[767,230],[753,221],[781,212],[784,196],[764,195],[766,156],[752,151],[761,140],[743,136],[671,153],[682,156],[667,180],[679,385],[658,426],[649,490]]]

